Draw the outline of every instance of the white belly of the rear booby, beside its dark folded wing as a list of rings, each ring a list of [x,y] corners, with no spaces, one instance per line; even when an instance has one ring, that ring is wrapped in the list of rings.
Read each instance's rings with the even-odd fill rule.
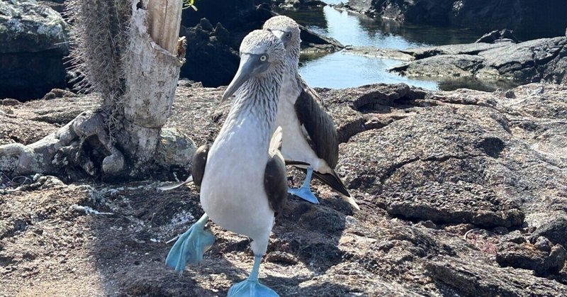
[[[288,81],[289,79],[284,79],[284,82]],[[281,90],[276,117],[276,126],[281,126],[283,130],[281,154],[286,159],[307,162],[317,172],[330,172],[327,162],[315,154],[303,135],[303,128],[301,128],[295,108],[296,99],[299,96],[297,86],[293,87],[289,83],[284,83]]]

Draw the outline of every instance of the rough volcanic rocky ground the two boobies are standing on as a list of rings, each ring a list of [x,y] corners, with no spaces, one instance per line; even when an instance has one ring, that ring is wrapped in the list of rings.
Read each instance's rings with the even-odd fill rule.
[[[168,125],[213,140],[222,92],[181,82]],[[567,86],[320,94],[361,211],[317,182],[320,205],[290,197],[261,281],[281,296],[567,295]],[[27,144],[99,99],[0,102],[0,143]],[[169,240],[202,214],[193,186],[0,176],[1,296],[225,296],[252,267],[249,240],[214,224],[201,265],[164,267]]]

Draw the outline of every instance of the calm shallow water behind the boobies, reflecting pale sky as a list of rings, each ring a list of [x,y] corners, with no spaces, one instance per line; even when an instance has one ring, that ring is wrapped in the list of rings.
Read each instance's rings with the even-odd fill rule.
[[[325,1],[336,4],[339,1]],[[374,46],[403,50],[410,47],[472,43],[482,34],[468,29],[437,28],[433,26],[400,25],[394,22],[375,21],[372,18],[330,6],[301,11],[280,11],[303,26],[322,35],[335,38],[343,45]],[[347,88],[374,83],[399,83],[420,86],[425,89],[493,90],[495,84],[479,83],[471,79],[436,82],[432,79],[408,79],[386,69],[403,64],[403,61],[361,57],[344,52],[329,55],[302,57],[299,72],[311,86]],[[499,86],[505,86],[499,85]]]

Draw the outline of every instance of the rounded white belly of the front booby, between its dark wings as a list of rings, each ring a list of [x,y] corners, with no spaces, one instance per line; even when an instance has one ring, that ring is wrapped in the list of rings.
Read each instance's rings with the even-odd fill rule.
[[[248,130],[252,126],[240,125],[215,140],[201,184],[201,205],[214,223],[264,241],[274,223],[264,190],[268,150],[258,133]]]

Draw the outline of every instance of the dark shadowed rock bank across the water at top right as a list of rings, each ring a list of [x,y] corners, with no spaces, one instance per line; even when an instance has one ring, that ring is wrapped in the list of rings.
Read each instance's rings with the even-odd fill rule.
[[[345,7],[395,21],[558,35],[567,25],[564,4],[562,0],[350,0]]]

